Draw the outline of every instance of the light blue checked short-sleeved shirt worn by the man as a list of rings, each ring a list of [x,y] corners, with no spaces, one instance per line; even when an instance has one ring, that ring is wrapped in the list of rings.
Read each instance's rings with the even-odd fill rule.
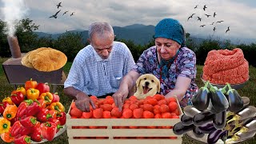
[[[73,86],[95,96],[114,93],[132,66],[134,58],[125,43],[114,42],[107,59],[100,58],[93,46],[88,45],[74,58],[64,88]]]

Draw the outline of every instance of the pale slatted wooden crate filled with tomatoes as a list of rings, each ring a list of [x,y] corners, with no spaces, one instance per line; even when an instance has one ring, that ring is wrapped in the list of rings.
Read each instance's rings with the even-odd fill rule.
[[[179,116],[182,110],[178,105]],[[69,143],[84,144],[180,144],[182,136],[175,135],[171,129],[180,118],[71,118],[70,109],[66,115]],[[89,129],[87,126],[101,126]],[[116,129],[116,126],[122,126]],[[125,126],[169,126],[166,129],[130,129]],[[146,139],[144,139],[146,138]]]

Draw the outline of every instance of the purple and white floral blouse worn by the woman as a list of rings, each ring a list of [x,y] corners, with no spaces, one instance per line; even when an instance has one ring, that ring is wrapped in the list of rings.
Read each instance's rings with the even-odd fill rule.
[[[139,74],[154,74],[161,83],[161,94],[166,95],[173,90],[178,76],[191,78],[191,84],[186,94],[182,98],[182,101],[179,102],[181,107],[187,105],[192,105],[191,98],[198,91],[198,86],[195,84],[196,78],[196,56],[194,52],[186,47],[179,49],[177,58],[170,65],[168,70],[167,77],[162,80],[161,75],[162,71],[158,67],[158,54],[156,46],[152,46],[147,50],[144,50],[138,62],[131,70],[137,71]]]

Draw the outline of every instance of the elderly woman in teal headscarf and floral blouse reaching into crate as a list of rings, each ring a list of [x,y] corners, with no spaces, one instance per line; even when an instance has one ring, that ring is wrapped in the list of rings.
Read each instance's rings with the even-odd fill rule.
[[[165,18],[155,27],[155,46],[145,50],[136,65],[122,79],[113,95],[115,104],[122,104],[141,74],[154,74],[161,83],[161,94],[166,98],[177,96],[182,107],[191,105],[198,90],[195,84],[196,57],[185,46],[185,31],[175,19]]]

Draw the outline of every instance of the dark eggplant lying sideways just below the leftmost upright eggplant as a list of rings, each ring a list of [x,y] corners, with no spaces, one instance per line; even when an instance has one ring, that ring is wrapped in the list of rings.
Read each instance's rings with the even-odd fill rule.
[[[201,126],[202,124],[205,124],[206,122],[212,121],[213,118],[214,118],[214,114],[208,110],[205,110],[199,114],[195,114],[194,118],[192,119],[192,122],[194,123],[195,126]]]

